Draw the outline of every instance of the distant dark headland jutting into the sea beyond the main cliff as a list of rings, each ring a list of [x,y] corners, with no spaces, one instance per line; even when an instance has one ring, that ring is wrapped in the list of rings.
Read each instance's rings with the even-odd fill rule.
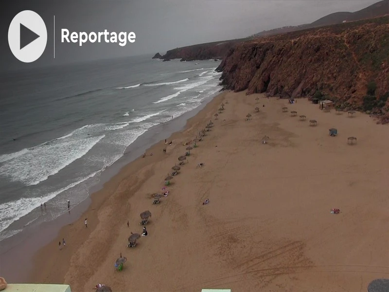
[[[235,44],[247,39],[236,39],[227,41],[218,41],[212,43],[199,44],[194,46],[187,46],[176,48],[167,51],[162,56],[163,59],[181,59],[181,61],[193,60],[208,60],[214,58],[222,58]]]

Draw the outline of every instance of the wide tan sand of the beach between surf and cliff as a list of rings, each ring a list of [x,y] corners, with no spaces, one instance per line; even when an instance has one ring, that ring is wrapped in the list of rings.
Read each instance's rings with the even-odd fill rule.
[[[153,205],[151,194],[161,192],[186,151],[182,142],[211,119],[212,130],[191,150],[168,197]],[[147,151],[153,156],[126,165],[93,194],[82,218],[35,255],[33,282],[67,283],[72,292],[97,283],[134,292],[354,292],[389,277],[388,126],[358,112],[323,112],[305,99],[289,105],[226,91],[168,140],[173,145],[162,141]],[[152,213],[149,235],[127,248],[130,232],[141,233],[145,210]],[[63,237],[67,245],[59,250]],[[118,272],[120,253],[128,260]]]

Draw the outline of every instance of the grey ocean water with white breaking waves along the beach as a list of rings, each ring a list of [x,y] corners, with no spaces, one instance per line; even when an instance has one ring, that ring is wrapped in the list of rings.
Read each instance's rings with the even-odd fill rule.
[[[141,56],[2,74],[0,240],[85,200],[138,137],[221,89],[218,65]]]

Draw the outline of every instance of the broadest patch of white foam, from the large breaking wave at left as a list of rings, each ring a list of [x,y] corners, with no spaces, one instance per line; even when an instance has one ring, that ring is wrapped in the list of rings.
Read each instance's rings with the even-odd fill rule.
[[[55,139],[28,148],[24,154],[1,165],[0,174],[13,182],[36,185],[83,157],[104,137],[105,135],[89,138],[83,136],[70,140]]]

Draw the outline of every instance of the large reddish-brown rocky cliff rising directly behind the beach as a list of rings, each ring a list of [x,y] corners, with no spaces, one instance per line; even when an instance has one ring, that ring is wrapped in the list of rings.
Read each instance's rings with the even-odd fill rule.
[[[237,44],[218,67],[222,85],[248,94],[333,100],[389,121],[388,18],[343,23]]]

